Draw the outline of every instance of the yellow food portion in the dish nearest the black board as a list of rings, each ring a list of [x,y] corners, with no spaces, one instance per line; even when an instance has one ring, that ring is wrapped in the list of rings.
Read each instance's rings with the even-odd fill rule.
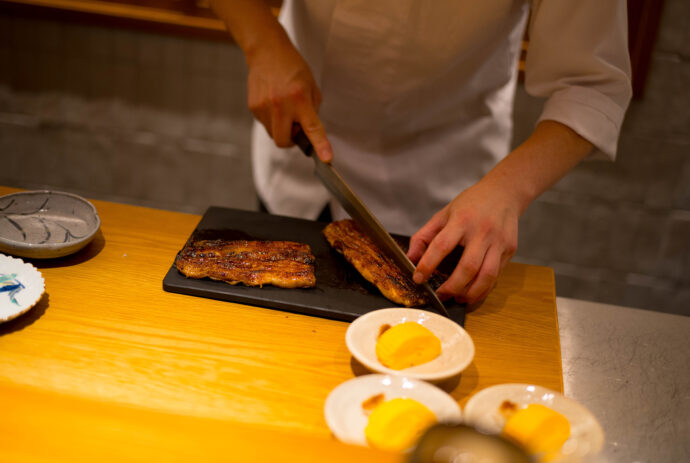
[[[441,340],[427,327],[405,322],[383,332],[376,342],[376,356],[393,370],[421,365],[441,355]]]

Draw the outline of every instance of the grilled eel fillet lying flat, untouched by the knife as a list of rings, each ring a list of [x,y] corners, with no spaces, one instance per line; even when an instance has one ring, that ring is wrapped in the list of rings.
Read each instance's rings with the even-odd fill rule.
[[[209,277],[231,285],[316,286],[311,249],[294,241],[191,241],[175,265],[189,278]]]

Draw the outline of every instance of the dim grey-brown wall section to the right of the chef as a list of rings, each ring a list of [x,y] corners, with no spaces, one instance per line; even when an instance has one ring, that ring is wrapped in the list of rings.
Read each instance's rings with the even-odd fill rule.
[[[553,267],[558,295],[690,315],[689,19],[666,0],[616,162],[581,164],[520,221],[517,260]],[[539,111],[519,89],[516,142]]]

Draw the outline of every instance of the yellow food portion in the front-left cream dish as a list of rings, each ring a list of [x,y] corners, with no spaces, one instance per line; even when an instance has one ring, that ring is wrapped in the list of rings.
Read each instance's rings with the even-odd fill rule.
[[[374,408],[364,435],[372,447],[401,452],[412,447],[436,421],[436,415],[416,400],[397,398]]]

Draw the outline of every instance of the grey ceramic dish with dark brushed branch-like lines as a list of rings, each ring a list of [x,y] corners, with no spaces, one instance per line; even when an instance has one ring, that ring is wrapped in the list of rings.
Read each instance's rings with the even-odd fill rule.
[[[66,256],[86,246],[100,226],[93,204],[71,193],[0,197],[0,252],[36,259]]]

